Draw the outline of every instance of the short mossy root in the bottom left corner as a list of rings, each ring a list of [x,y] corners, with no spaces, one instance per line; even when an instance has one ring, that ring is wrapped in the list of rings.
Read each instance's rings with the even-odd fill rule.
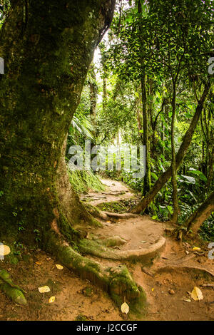
[[[14,285],[10,275],[5,270],[0,271],[0,289],[16,304],[26,304],[26,298],[24,297],[23,290]]]

